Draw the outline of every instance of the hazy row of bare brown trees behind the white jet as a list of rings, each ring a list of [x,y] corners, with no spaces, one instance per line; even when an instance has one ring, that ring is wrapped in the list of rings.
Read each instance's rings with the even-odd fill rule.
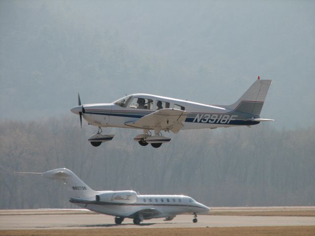
[[[185,194],[208,206],[315,205],[315,128],[276,130],[268,124],[167,134],[160,148],[141,147],[139,130],[100,147],[95,127],[72,117],[0,122],[0,208],[74,207],[57,182],[15,171],[66,167],[95,190]]]

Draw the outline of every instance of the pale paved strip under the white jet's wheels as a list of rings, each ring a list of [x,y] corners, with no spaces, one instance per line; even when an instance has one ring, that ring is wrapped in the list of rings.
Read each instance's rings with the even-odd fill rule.
[[[0,210],[0,230],[315,226],[315,216],[198,215],[197,223],[192,223],[192,219],[192,215],[177,215],[172,221],[152,219],[140,225],[134,225],[132,219],[125,219],[121,225],[116,225],[113,216],[87,211]]]

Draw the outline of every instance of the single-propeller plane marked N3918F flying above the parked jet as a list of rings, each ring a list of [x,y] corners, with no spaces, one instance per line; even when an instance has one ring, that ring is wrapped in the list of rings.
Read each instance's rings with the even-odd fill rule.
[[[161,131],[178,133],[185,129],[215,129],[219,127],[249,126],[273,119],[260,118],[271,80],[258,79],[231,105],[207,105],[152,94],[135,93],[113,103],[83,104],[78,94],[78,106],[71,112],[82,117],[88,124],[98,126],[96,134],[88,141],[95,147],[113,139],[103,135],[101,127],[142,129],[134,137],[141,146],[151,144],[159,148],[171,139]]]

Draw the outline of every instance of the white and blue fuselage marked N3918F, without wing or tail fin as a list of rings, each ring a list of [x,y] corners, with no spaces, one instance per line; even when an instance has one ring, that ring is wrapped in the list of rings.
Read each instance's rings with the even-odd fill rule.
[[[139,106],[137,103],[139,98],[145,101],[144,105]],[[81,109],[81,106],[75,108]],[[75,108],[71,110],[74,113],[76,113]],[[226,106],[207,105],[144,93],[131,94],[113,103],[85,104],[82,107],[82,116],[89,124],[95,126],[132,128],[126,123],[136,121],[161,108],[175,108],[189,112],[183,129],[218,128],[259,123],[251,120],[259,118],[259,116],[231,110]]]

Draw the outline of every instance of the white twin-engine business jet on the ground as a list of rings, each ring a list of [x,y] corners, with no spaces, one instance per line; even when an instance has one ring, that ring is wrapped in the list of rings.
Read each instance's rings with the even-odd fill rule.
[[[172,220],[176,215],[192,213],[193,223],[197,213],[207,213],[210,208],[184,195],[138,195],[135,191],[94,191],[72,171],[60,168],[44,173],[16,172],[20,174],[39,174],[57,179],[70,189],[70,203],[80,207],[115,216],[115,223],[121,224],[125,218],[132,218],[138,225],[143,220],[164,218]]]

